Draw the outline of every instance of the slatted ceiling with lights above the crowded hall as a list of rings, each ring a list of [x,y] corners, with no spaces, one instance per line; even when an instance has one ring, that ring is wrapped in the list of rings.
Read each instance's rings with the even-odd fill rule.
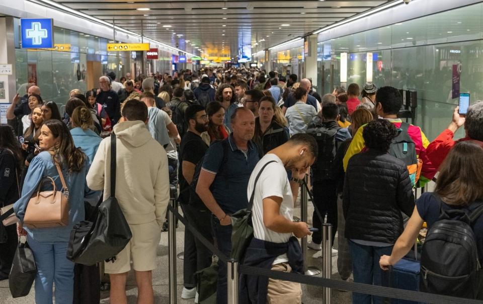
[[[59,4],[200,55],[265,49],[360,14],[389,0],[62,1]],[[170,26],[169,28],[163,26]],[[288,25],[288,26],[287,26]],[[186,40],[189,40],[187,42]],[[192,44],[195,44],[194,46]],[[218,54],[209,54],[218,55]]]

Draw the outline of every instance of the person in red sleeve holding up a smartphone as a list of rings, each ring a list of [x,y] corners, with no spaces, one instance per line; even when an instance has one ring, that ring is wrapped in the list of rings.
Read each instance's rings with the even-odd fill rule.
[[[469,101],[469,98],[468,98]],[[453,140],[454,133],[464,125],[465,137]],[[468,107],[466,115],[460,114],[460,107],[453,110],[449,126],[426,148],[426,154],[434,167],[439,168],[449,151],[459,141],[472,140],[483,147],[483,102]]]

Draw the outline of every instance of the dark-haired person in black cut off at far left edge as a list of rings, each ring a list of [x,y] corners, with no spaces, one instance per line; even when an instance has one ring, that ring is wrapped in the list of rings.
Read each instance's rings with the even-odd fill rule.
[[[7,124],[0,124],[0,208],[15,203],[20,197],[22,159],[14,129]],[[0,234],[4,236],[0,242],[1,281],[9,278],[18,239],[16,225],[4,226],[0,222],[0,230],[4,230]]]

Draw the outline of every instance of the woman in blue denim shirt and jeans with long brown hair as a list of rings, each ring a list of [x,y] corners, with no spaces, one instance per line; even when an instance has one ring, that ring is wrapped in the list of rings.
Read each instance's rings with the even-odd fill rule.
[[[37,264],[35,302],[52,303],[52,288],[55,282],[55,301],[72,303],[74,263],[65,256],[72,226],[84,220],[84,198],[94,194],[86,184],[89,163],[81,149],[74,146],[67,126],[61,121],[49,120],[40,131],[39,146],[42,152],[32,160],[25,177],[22,197],[14,205],[15,214],[20,219],[17,230],[19,236],[27,235]],[[27,204],[39,183],[45,177],[51,177],[55,181],[55,187],[62,189],[54,162],[62,168],[62,175],[69,190],[69,224],[53,228],[23,229]],[[41,190],[51,188],[51,184],[45,183]]]

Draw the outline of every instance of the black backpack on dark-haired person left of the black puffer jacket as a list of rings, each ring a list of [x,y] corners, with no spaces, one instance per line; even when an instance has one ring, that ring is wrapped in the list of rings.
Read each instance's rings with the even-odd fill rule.
[[[306,133],[312,135],[318,145],[318,155],[312,165],[314,180],[333,179],[332,163],[336,158],[339,142],[336,141],[337,132],[341,127],[311,127]]]

